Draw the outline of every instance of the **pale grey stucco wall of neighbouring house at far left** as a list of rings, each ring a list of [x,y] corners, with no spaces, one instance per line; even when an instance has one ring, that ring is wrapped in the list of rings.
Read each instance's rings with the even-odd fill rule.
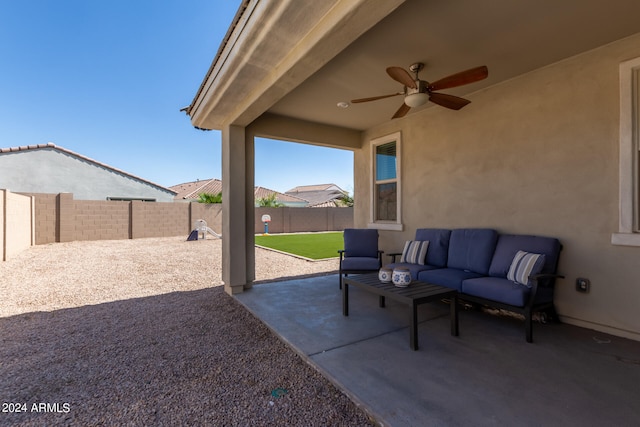
[[[0,154],[0,188],[20,193],[73,193],[76,200],[107,197],[172,202],[174,194],[54,147]]]

